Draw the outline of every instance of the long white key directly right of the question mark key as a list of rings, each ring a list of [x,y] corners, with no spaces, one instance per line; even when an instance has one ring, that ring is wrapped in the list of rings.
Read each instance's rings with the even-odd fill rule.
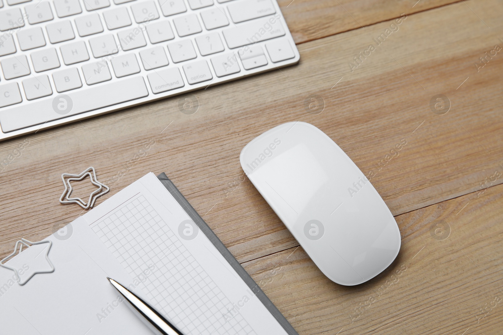
[[[272,27],[270,31],[264,29],[264,27],[268,25]],[[277,20],[271,23],[268,18],[251,21],[233,28],[227,28],[224,29],[222,33],[230,49],[285,35],[281,22]]]

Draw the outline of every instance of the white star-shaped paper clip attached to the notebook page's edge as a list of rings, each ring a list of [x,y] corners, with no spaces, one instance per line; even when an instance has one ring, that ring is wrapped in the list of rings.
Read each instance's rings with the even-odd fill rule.
[[[49,246],[45,251],[45,260],[43,258],[38,258],[40,254],[42,254],[42,249],[37,253],[38,248],[32,249],[33,246],[48,243]],[[31,245],[31,246],[30,246]],[[25,246],[27,251],[23,252],[23,246]],[[16,247],[14,247],[14,252],[0,261],[0,266],[3,266],[6,269],[12,270],[16,273],[16,281],[19,285],[26,284],[33,276],[37,273],[51,273],[54,272],[54,266],[49,260],[49,250],[51,249],[52,242],[51,241],[39,241],[39,242],[31,242],[26,239],[21,239],[16,242]],[[28,252],[30,250],[30,252]],[[18,255],[19,257],[14,258],[14,256]],[[14,258],[11,265],[8,266],[4,263],[9,261],[11,258]]]

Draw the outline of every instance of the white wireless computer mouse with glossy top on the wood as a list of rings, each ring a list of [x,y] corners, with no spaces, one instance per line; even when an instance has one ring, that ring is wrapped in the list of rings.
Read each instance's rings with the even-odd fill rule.
[[[318,128],[275,127],[239,157],[248,179],[330,280],[361,284],[400,250],[396,221],[365,175]]]

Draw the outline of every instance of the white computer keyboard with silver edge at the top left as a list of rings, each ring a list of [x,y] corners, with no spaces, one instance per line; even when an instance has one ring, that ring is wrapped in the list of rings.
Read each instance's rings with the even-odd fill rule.
[[[0,0],[0,140],[298,61],[276,0]]]

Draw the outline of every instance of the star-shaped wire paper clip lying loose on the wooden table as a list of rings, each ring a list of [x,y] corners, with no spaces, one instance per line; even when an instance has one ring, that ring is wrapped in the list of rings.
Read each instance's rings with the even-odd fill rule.
[[[93,185],[97,186],[98,189],[96,191],[94,191],[93,193],[91,193],[87,203],[80,198],[70,198],[71,191],[72,191],[70,181],[82,180],[82,179],[86,178],[86,176],[89,176]],[[66,177],[66,179],[65,179],[65,177]],[[88,209],[88,208],[93,207],[94,203],[98,197],[100,197],[103,194],[110,191],[110,187],[108,187],[107,185],[102,184],[98,181],[98,179],[96,178],[96,171],[95,171],[94,167],[92,167],[92,166],[90,168],[87,168],[86,170],[80,172],[79,174],[63,173],[61,175],[61,180],[63,180],[64,191],[63,191],[63,194],[61,194],[61,196],[59,197],[59,202],[61,202],[61,203],[74,202],[84,209]],[[103,189],[105,189],[105,190],[103,190]]]

